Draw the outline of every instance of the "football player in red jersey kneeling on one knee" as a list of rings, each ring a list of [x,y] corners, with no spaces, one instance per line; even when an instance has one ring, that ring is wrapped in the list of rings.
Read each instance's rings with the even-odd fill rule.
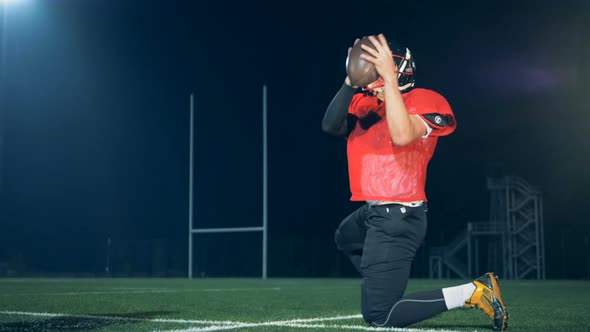
[[[375,327],[405,327],[447,310],[477,307],[503,331],[508,314],[494,273],[404,294],[426,234],[428,162],[456,120],[442,95],[414,87],[416,64],[408,48],[382,34],[368,38],[375,48],[362,45],[361,58],[375,65],[379,79],[357,87],[346,77],[322,121],[325,132],[346,138],[351,200],[366,202],[335,233],[338,249],[363,278],[363,318]]]

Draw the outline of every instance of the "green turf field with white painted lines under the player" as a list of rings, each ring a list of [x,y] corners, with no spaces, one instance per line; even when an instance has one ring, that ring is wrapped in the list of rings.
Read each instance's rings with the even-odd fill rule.
[[[411,280],[408,291],[460,280]],[[357,279],[0,279],[0,331],[363,331]],[[510,331],[590,331],[590,282],[500,280]],[[491,331],[477,309],[396,331]]]

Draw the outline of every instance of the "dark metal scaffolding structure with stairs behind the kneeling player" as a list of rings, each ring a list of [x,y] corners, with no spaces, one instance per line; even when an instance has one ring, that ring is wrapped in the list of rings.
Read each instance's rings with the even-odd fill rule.
[[[431,278],[472,278],[495,270],[507,279],[545,279],[543,197],[515,176],[487,178],[489,220],[468,222],[446,246],[430,250]],[[484,255],[480,250],[484,248]]]

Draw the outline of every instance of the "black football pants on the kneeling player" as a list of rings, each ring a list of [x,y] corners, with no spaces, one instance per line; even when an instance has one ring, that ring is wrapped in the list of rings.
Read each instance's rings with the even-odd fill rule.
[[[398,204],[365,204],[336,230],[338,249],[363,277],[361,311],[369,324],[405,327],[447,310],[441,289],[404,297],[425,234],[425,206]]]

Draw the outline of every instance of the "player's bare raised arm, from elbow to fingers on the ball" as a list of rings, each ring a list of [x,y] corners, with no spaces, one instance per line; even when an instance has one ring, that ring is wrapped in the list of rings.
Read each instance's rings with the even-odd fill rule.
[[[393,144],[408,145],[427,134],[427,127],[417,115],[408,114],[398,87],[397,65],[391,57],[391,50],[385,37],[380,34],[378,38],[369,36],[375,49],[362,45],[363,50],[368,54],[362,54],[361,58],[373,63],[384,81],[385,117]]]

